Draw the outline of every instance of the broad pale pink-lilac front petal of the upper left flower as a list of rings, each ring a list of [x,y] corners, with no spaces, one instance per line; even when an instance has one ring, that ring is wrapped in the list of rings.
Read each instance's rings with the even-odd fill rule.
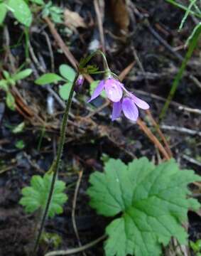
[[[105,81],[105,92],[109,100],[112,100],[112,102],[119,102],[123,96],[123,90],[119,84],[120,82],[114,78],[107,79]]]

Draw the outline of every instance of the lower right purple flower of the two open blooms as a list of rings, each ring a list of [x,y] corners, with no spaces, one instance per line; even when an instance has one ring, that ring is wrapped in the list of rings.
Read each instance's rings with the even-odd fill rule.
[[[123,100],[114,102],[112,110],[112,121],[120,117],[121,111],[124,112],[125,117],[128,119],[136,121],[138,119],[137,107],[141,108],[142,110],[148,110],[149,105],[129,92],[128,96],[124,97]]]

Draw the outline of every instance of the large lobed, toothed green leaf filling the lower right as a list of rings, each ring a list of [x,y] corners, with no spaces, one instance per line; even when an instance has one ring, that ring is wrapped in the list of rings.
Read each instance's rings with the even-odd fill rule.
[[[191,170],[182,170],[172,159],[154,166],[141,158],[126,166],[110,159],[104,173],[90,176],[88,189],[92,208],[105,216],[121,213],[107,226],[107,256],[158,256],[161,245],[175,237],[182,244],[188,234],[182,223],[188,220],[188,208],[200,204],[187,198],[188,183],[201,177]]]

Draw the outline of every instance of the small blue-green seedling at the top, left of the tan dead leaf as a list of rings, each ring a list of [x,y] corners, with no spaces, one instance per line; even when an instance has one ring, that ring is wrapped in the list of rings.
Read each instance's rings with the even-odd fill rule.
[[[54,6],[52,1],[45,4],[42,15],[43,17],[50,16],[55,23],[63,23],[63,9]]]

